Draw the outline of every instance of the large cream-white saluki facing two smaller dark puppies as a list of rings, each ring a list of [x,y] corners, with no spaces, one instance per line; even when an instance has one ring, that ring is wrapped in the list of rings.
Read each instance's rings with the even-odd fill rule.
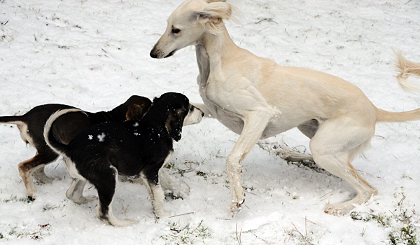
[[[314,161],[339,176],[357,191],[348,202],[328,205],[328,214],[347,214],[363,204],[377,189],[358,175],[350,162],[367,146],[377,122],[420,120],[420,109],[393,113],[378,109],[363,92],[346,80],[327,73],[279,66],[233,43],[223,20],[231,18],[225,1],[188,0],[167,20],[165,33],[151,50],[151,57],[165,58],[195,45],[200,75],[197,83],[204,113],[240,134],[226,160],[232,192],[230,210],[244,203],[241,162],[258,139],[297,127],[311,139]],[[401,57],[402,58],[402,57]],[[408,67],[411,64],[413,67]],[[420,65],[400,59],[406,73],[420,75]],[[406,69],[407,68],[407,69]]]

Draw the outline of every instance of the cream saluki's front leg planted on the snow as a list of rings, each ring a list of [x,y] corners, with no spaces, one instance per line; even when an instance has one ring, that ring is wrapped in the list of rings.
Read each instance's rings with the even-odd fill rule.
[[[272,113],[267,111],[253,111],[244,118],[244,129],[239,136],[235,147],[230,152],[226,160],[226,172],[230,182],[230,192],[232,194],[232,203],[230,211],[238,211],[241,204],[245,202],[244,190],[241,183],[241,162],[251,151],[251,148],[260,139],[265,130]]]

